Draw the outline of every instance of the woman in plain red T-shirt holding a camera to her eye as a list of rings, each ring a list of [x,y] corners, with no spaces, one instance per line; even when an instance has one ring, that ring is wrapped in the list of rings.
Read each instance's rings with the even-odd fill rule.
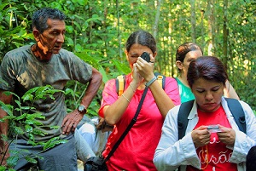
[[[150,54],[150,62],[140,57],[143,52]],[[155,82],[156,43],[147,31],[136,31],[131,34],[126,43],[125,54],[131,66],[131,73],[125,77],[124,93],[118,96],[115,79],[109,80],[102,92],[99,115],[105,117],[108,124],[114,125],[103,157],[108,156],[113,145],[131,122],[145,84],[148,83],[148,93],[137,117],[137,123],[114,151],[107,166],[108,170],[156,170],[153,163],[154,150],[160,140],[164,118],[167,111],[180,104],[177,82],[171,77],[166,77],[164,89]]]

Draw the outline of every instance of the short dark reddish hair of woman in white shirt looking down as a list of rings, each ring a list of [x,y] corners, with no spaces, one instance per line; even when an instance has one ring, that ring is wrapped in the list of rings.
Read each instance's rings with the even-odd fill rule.
[[[223,63],[214,56],[201,56],[190,62],[187,75],[189,87],[192,88],[195,80],[200,77],[224,85],[228,79]]]

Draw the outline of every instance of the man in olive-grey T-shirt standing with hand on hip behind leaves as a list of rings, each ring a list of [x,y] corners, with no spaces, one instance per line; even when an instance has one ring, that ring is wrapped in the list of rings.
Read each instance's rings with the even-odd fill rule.
[[[8,83],[0,83],[0,100],[5,104],[12,104],[15,96],[7,96],[3,94],[4,91],[12,91],[21,97],[27,90],[38,86],[51,85],[55,89],[63,90],[69,80],[88,83],[81,105],[68,114],[65,94],[62,92],[55,93],[54,100],[47,98],[33,104],[34,110],[31,113],[41,112],[45,117],[38,119],[38,122],[43,123],[45,127],[37,125],[34,127],[46,133],[45,136],[35,136],[35,141],[47,141],[53,137],[67,140],[67,143],[56,145],[40,153],[40,156],[44,157],[44,159],[38,158],[40,170],[77,170],[73,132],[102,83],[102,74],[99,71],[84,60],[80,60],[72,52],[61,48],[66,31],[65,18],[58,9],[44,8],[36,11],[32,16],[32,30],[37,43],[9,51],[0,67],[0,77]],[[6,115],[6,112],[0,109],[0,118]],[[59,128],[50,129],[50,126],[59,126]],[[0,123],[0,128],[0,134],[7,134],[8,123]],[[20,125],[20,128],[25,130],[24,125]],[[25,156],[42,151],[41,145],[27,144],[28,139],[27,134],[19,135],[10,145],[10,149],[26,149],[28,152],[24,154]],[[0,150],[6,151],[3,141],[0,142]],[[20,159],[15,169],[26,170],[28,165],[25,159]]]

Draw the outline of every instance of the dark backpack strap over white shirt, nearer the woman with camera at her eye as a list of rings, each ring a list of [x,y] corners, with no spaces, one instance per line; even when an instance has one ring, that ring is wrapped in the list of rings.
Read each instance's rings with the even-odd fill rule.
[[[189,112],[191,111],[195,100],[189,100],[180,105],[177,113],[178,140],[181,140],[186,133],[189,123]]]

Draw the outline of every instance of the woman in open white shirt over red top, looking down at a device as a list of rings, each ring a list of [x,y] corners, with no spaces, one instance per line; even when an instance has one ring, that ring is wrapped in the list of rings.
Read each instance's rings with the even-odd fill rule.
[[[193,102],[193,106],[187,117],[188,124],[183,125],[185,135],[178,137],[181,125],[177,119],[180,105],[177,105],[166,115],[154,153],[156,168],[159,171],[176,168],[181,171],[245,171],[247,152],[256,144],[256,117],[252,108],[235,100],[244,111],[245,133],[236,123],[233,112],[236,109],[223,97],[228,75],[216,57],[204,56],[191,61],[187,77],[195,100],[189,102]]]

